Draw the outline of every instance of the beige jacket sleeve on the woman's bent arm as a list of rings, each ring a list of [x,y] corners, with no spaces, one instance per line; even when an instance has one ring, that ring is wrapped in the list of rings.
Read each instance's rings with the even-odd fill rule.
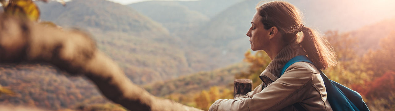
[[[301,102],[310,91],[312,71],[305,64],[292,64],[276,81],[252,98],[221,99],[213,103],[213,111],[277,111]],[[215,110],[214,110],[215,109]]]

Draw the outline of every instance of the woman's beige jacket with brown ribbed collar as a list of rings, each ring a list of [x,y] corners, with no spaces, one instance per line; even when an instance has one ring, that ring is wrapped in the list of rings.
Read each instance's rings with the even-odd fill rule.
[[[278,53],[259,76],[263,81],[252,92],[235,99],[220,99],[209,111],[297,111],[293,103],[307,111],[332,111],[319,70],[308,62],[292,64],[280,77],[282,67],[291,58],[306,55],[296,43]]]

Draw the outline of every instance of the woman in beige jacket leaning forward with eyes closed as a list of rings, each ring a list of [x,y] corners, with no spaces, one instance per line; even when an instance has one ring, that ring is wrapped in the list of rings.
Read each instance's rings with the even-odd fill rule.
[[[253,51],[263,50],[272,60],[259,76],[263,82],[245,96],[217,100],[209,111],[331,111],[319,73],[336,64],[327,40],[303,26],[299,10],[288,2],[268,2],[256,10],[247,36]],[[280,77],[286,62],[299,55],[315,65],[296,62]]]

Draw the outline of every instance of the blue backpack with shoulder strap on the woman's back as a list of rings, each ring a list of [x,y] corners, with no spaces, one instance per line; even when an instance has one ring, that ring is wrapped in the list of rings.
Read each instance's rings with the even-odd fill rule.
[[[290,61],[288,61],[282,68],[281,74],[284,74],[285,70],[295,62],[308,62],[313,64],[307,56],[295,56]],[[363,102],[361,95],[347,88],[335,81],[329,80],[328,77],[320,70],[322,79],[324,79],[324,84],[327,92],[327,99],[333,111],[369,111],[369,108]],[[300,104],[298,110],[300,109]],[[303,107],[301,107],[303,108]],[[303,108],[304,109],[304,108]],[[303,111],[303,109],[301,109]],[[305,110],[305,109],[304,109]]]

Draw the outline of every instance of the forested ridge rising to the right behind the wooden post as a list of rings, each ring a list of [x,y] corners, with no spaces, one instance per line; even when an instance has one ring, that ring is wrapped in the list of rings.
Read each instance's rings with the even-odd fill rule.
[[[247,71],[249,64],[242,62],[213,71],[202,71],[163,82],[145,85],[155,96],[196,93],[213,86],[233,86],[235,75]],[[180,88],[181,87],[181,88]]]

